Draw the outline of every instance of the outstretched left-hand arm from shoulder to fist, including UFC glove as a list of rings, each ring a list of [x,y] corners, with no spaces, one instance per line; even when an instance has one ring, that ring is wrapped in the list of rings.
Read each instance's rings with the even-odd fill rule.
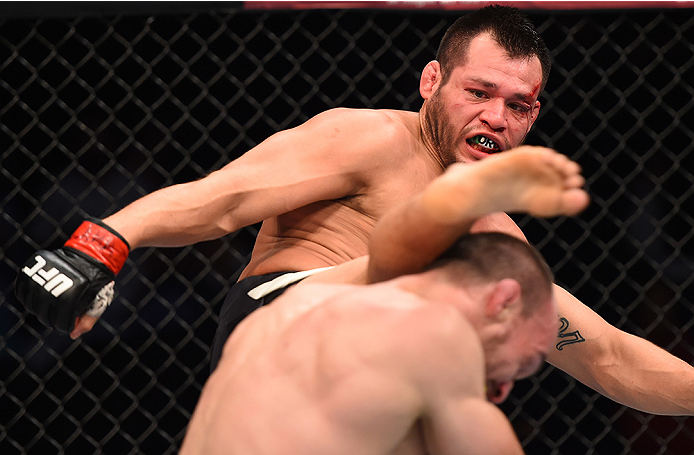
[[[201,180],[86,222],[57,255],[38,252],[20,269],[17,297],[45,315],[47,325],[76,338],[113,298],[110,281],[131,249],[189,245],[312,202],[359,195],[390,164],[382,151],[393,124],[377,111],[334,109],[277,133]],[[99,311],[85,313],[101,294]]]

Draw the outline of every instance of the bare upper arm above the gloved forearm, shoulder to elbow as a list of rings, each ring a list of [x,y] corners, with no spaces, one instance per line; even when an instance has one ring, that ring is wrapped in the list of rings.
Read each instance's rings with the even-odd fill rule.
[[[307,204],[367,190],[378,144],[351,112],[319,114],[305,124],[269,137],[211,174],[209,185],[233,194],[228,215],[245,226]],[[230,220],[231,221],[231,220]]]

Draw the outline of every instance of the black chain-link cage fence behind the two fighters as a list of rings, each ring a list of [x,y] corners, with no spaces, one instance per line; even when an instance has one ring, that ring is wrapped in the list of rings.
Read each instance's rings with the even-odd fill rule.
[[[198,179],[325,109],[418,110],[420,70],[461,14],[93,3],[0,20],[3,455],[176,453],[258,226],[134,251],[77,341],[17,302],[20,264],[85,216]],[[575,219],[517,218],[559,284],[690,363],[693,12],[528,11],[554,59],[528,142],[578,161],[593,203]],[[692,419],[625,408],[550,366],[502,409],[528,453],[694,451]]]

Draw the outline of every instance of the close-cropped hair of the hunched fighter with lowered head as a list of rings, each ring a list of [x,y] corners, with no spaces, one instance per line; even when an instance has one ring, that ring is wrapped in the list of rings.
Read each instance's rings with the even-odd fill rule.
[[[499,232],[461,237],[429,269],[447,269],[460,284],[498,282],[505,278],[521,286],[524,317],[549,301],[554,278],[540,253],[527,243]]]

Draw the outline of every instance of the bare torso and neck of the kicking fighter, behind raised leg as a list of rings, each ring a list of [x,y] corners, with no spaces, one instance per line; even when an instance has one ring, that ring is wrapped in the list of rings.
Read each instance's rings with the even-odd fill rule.
[[[332,266],[368,254],[369,235],[378,218],[443,172],[440,162],[421,141],[418,114],[384,112],[391,121],[389,134],[384,136],[392,144],[382,144],[374,153],[380,154],[388,165],[379,168],[359,194],[314,202],[265,220],[241,279]],[[392,128],[392,122],[401,127]],[[392,134],[393,130],[398,133]],[[364,169],[364,174],[368,172]],[[479,230],[508,232],[514,227],[508,217],[491,218],[496,221],[480,224]]]

